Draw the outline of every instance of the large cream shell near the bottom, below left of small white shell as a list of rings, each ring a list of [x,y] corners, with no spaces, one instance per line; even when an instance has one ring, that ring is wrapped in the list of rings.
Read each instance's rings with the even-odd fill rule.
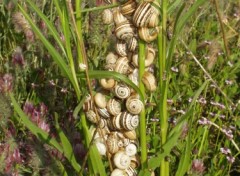
[[[127,169],[130,166],[131,159],[124,151],[118,151],[114,155],[113,162],[118,169]]]

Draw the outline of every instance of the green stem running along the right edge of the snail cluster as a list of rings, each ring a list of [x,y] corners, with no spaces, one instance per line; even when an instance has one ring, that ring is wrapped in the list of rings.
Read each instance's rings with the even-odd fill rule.
[[[139,88],[142,94],[145,94],[145,87],[142,83],[142,77],[145,72],[145,43],[139,41]],[[145,96],[144,96],[145,97]],[[143,97],[142,102],[145,103]],[[141,165],[142,169],[147,168],[147,138],[146,138],[146,112],[143,109],[140,113],[140,145],[141,145]]]

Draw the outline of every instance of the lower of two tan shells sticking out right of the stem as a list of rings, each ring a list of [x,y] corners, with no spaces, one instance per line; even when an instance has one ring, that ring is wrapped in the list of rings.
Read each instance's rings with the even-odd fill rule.
[[[144,72],[142,82],[149,91],[155,91],[157,89],[156,78],[150,72]]]

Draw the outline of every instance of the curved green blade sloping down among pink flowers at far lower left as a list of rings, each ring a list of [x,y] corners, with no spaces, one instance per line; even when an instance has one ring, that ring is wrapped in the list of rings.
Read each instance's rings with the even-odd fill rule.
[[[33,122],[31,122],[27,117],[27,115],[20,108],[19,104],[14,98],[14,95],[12,93],[10,93],[9,95],[10,95],[14,110],[19,115],[20,120],[22,120],[22,123],[39,139],[55,147],[59,152],[63,153],[63,149],[61,145],[55,139],[53,139],[47,132],[43,131],[41,128],[39,128]]]

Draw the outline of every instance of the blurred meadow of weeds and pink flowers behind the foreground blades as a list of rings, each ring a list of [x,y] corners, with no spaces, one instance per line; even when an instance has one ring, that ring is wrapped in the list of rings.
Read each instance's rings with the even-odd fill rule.
[[[170,4],[173,2],[170,1]],[[28,20],[20,12],[17,3],[25,8],[51,45],[64,55],[46,21],[27,3],[17,0],[0,1],[0,173],[77,175],[65,153],[33,135],[11,106],[7,94],[9,91],[14,93],[15,99],[31,122],[62,146],[54,115],[57,112],[60,128],[67,136],[77,162],[82,166],[88,150],[84,129],[81,125],[79,127],[82,121],[79,116],[74,116],[79,100],[70,80],[63,76],[39,36],[35,35]],[[34,0],[32,3],[54,24],[65,45],[64,29],[54,2]],[[194,3],[192,0],[185,1],[183,11],[187,11]],[[73,2],[73,7],[74,5]],[[100,1],[82,1],[81,8],[101,5],[103,4]],[[224,25],[228,55],[214,1],[206,2],[190,17],[183,32],[179,34],[174,50],[167,95],[169,132],[181,122],[197,90],[209,79],[194,58],[201,63],[214,82],[209,81],[197,97],[193,111],[187,113],[188,120],[181,129],[176,145],[165,157],[170,163],[170,175],[181,175],[179,167],[184,163],[183,155],[189,157],[184,163],[187,168],[184,174],[240,174],[240,2],[219,1],[218,10]],[[101,11],[82,13],[81,18],[90,70],[103,68],[106,52],[111,51],[115,42],[109,40],[113,26],[103,27],[100,13]],[[178,13],[171,13],[168,16],[167,42],[173,37],[177,15]],[[73,35],[71,52],[77,63],[78,46],[74,44],[75,40],[76,35]],[[158,69],[156,67],[155,70]],[[91,84],[98,88],[95,79],[92,79]],[[86,90],[85,88],[81,89]],[[81,96],[84,97],[84,94]],[[156,157],[161,150],[161,138],[156,135],[160,131],[158,112],[154,110],[158,100],[159,97],[152,94],[147,106],[149,159]],[[107,162],[104,164],[108,166]],[[84,172],[89,173],[89,170],[90,167],[86,165]],[[155,175],[159,175],[158,169],[155,170]]]

